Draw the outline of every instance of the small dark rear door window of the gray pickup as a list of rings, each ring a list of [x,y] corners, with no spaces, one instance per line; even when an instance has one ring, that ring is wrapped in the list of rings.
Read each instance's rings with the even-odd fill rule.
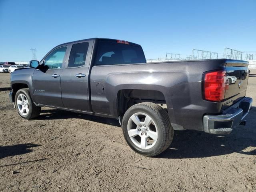
[[[68,67],[79,67],[85,65],[88,47],[88,42],[74,44],[70,52]]]

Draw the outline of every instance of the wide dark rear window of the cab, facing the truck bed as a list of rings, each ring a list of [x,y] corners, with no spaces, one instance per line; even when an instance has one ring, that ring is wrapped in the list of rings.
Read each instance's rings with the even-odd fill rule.
[[[140,46],[100,42],[95,65],[146,63]]]

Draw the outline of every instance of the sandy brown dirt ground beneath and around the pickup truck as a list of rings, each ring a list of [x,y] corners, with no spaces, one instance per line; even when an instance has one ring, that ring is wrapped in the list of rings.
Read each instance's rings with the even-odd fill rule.
[[[0,74],[0,191],[256,192],[256,70],[245,127],[227,136],[176,131],[155,158],[133,152],[114,119],[42,108],[24,120],[9,87],[10,74]]]

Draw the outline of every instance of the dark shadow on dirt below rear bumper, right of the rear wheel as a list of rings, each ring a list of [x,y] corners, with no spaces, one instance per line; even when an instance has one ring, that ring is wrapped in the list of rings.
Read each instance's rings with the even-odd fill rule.
[[[168,150],[158,158],[204,158],[231,153],[256,155],[256,107],[246,116],[247,125],[236,127],[228,135],[199,131],[176,131]]]

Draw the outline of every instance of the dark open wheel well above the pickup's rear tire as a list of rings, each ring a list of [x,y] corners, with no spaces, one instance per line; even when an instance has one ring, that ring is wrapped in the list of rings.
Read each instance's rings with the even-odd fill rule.
[[[155,90],[125,89],[119,90],[117,94],[118,116],[123,116],[128,108],[142,102],[159,104],[167,111],[166,100],[162,92]]]

